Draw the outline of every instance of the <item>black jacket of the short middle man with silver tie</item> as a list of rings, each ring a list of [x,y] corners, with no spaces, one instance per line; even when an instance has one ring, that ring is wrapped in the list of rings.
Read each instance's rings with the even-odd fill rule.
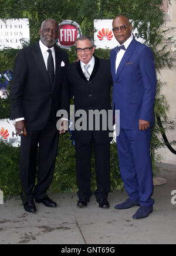
[[[87,129],[89,127],[89,110],[110,110],[110,87],[112,82],[110,61],[95,57],[93,72],[89,81],[83,74],[80,61],[69,64],[67,67],[67,80],[69,83],[70,98],[74,97],[75,112],[85,110],[87,113]],[[78,118],[79,119],[79,118]],[[101,119],[100,119],[101,120]],[[76,123],[76,119],[75,119]],[[100,122],[101,123],[101,122]],[[92,134],[93,133],[93,134]],[[102,130],[75,130],[75,140],[89,143],[92,135],[97,143],[110,141],[109,129]]]

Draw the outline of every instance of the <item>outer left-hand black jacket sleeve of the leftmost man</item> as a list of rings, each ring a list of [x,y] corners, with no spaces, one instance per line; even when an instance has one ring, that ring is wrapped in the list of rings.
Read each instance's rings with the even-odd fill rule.
[[[28,64],[23,51],[19,51],[13,68],[12,86],[10,92],[11,99],[11,117],[16,119],[23,116],[22,99],[23,87],[25,84],[26,76],[28,74]]]

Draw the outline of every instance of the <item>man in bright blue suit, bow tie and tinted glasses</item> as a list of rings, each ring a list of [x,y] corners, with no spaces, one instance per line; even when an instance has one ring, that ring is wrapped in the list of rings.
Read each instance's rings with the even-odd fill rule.
[[[113,109],[120,110],[117,151],[121,178],[129,196],[115,208],[140,205],[133,215],[140,219],[153,211],[154,204],[150,139],[157,80],[153,53],[133,39],[132,29],[124,15],[114,18],[113,32],[118,45],[110,52]]]

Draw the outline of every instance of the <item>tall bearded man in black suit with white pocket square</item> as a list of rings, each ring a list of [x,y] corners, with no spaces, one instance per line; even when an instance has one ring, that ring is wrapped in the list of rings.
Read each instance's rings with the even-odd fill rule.
[[[21,137],[21,198],[25,211],[33,213],[34,199],[48,207],[57,206],[46,191],[52,182],[59,138],[56,112],[69,109],[65,87],[67,54],[55,45],[59,35],[57,22],[43,21],[39,35],[39,42],[19,51],[11,87],[11,119],[16,121],[17,133],[27,132],[27,136]]]

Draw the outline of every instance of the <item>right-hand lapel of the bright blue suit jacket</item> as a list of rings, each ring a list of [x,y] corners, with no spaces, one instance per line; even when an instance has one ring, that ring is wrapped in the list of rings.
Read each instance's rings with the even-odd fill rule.
[[[126,66],[126,63],[128,61],[128,59],[130,58],[131,54],[133,54],[133,51],[136,47],[136,40],[133,39],[130,42],[130,45],[128,46],[125,54],[123,55],[123,58],[120,61],[119,67],[117,68],[117,73],[115,75],[115,80],[117,81],[117,78],[120,76],[121,71],[123,70],[123,68]],[[115,67],[116,67],[116,60],[114,61]]]

